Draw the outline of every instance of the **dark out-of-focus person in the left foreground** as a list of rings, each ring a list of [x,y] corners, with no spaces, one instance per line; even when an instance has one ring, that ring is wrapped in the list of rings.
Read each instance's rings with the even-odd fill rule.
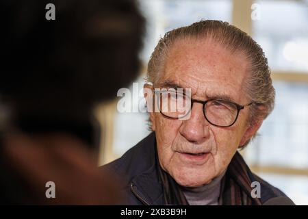
[[[48,3],[55,20],[46,18]],[[114,201],[106,189],[113,182],[97,174],[87,148],[98,142],[94,105],[138,75],[144,18],[136,4],[0,4],[1,203]],[[45,197],[46,181],[55,181],[60,192],[54,201]]]

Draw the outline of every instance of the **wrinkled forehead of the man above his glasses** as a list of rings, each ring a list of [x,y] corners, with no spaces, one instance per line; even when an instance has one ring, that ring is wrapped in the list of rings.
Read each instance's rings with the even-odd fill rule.
[[[231,52],[214,40],[179,40],[165,60],[159,86],[191,88],[192,96],[224,96],[241,101],[248,75],[244,53]]]

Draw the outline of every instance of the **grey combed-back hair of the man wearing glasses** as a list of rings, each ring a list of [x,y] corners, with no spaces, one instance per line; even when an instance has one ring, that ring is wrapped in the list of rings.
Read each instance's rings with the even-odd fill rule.
[[[168,31],[159,40],[149,60],[147,71],[149,82],[155,85],[164,73],[164,62],[172,45],[179,40],[188,38],[211,39],[229,49],[232,53],[244,53],[246,59],[250,62],[244,90],[247,98],[255,103],[250,107],[248,121],[254,123],[260,116],[264,119],[272,112],[275,91],[264,51],[251,36],[227,22],[198,21],[192,25]],[[260,105],[264,107],[260,108]]]

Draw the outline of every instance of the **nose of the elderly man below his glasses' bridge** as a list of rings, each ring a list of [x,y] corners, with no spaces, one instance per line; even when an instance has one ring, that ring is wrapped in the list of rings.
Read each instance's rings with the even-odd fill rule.
[[[209,136],[208,125],[203,115],[203,105],[194,103],[190,118],[183,120],[179,131],[188,141],[200,144]]]

